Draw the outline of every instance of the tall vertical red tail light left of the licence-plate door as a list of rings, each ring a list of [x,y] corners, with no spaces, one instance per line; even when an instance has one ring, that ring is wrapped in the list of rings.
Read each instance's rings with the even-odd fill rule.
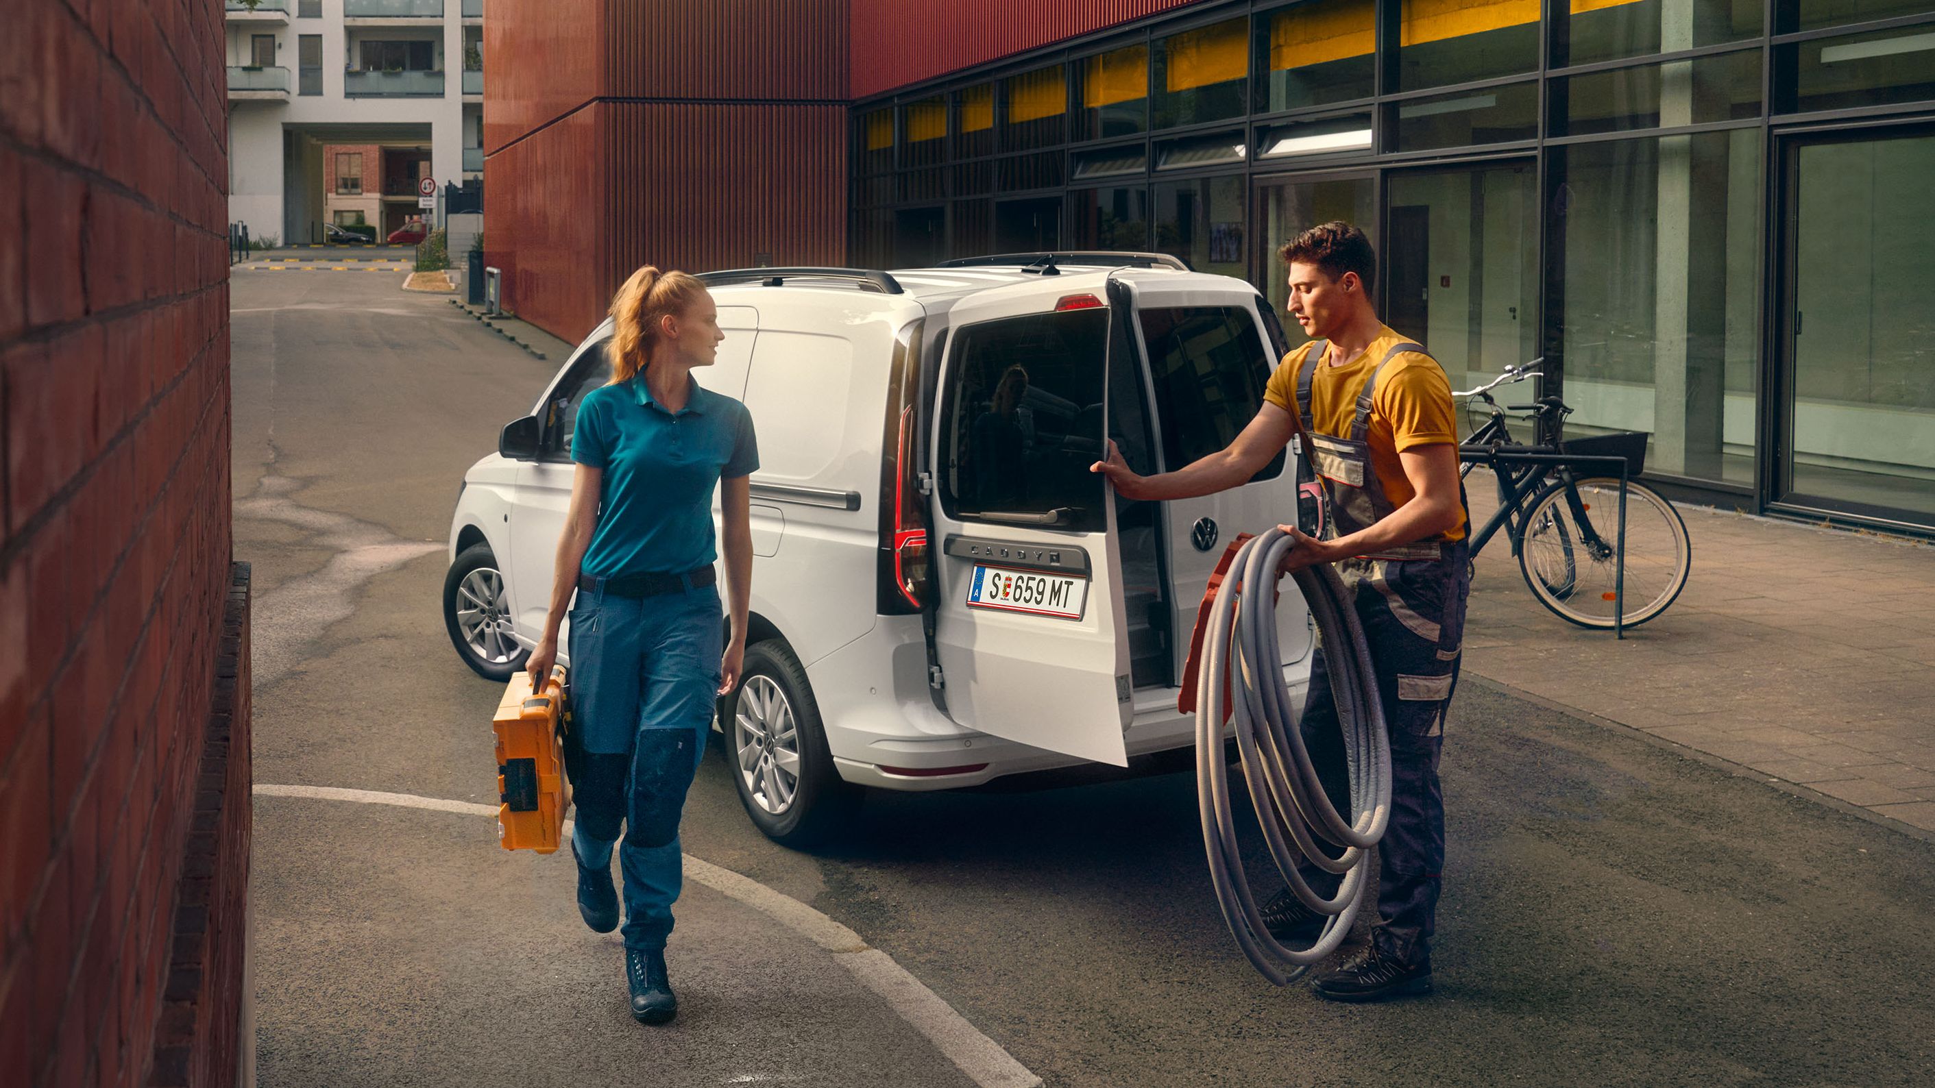
[[[921,495],[921,325],[915,321],[894,350],[880,435],[880,551],[875,605],[882,616],[927,609],[927,499]]]

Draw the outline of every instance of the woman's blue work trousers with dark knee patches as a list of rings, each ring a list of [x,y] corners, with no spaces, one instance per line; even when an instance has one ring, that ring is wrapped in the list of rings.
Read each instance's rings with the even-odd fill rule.
[[[664,949],[671,935],[679,814],[712,727],[724,636],[714,586],[654,597],[579,589],[571,609],[573,725],[584,750],[571,848],[600,868],[619,846],[631,949]]]

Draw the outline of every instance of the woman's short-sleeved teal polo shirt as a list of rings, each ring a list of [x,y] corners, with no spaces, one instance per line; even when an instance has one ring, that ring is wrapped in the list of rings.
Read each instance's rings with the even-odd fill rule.
[[[580,570],[683,574],[718,558],[712,491],[757,472],[759,444],[745,404],[693,383],[685,408],[666,412],[635,377],[584,394],[571,460],[604,470]]]

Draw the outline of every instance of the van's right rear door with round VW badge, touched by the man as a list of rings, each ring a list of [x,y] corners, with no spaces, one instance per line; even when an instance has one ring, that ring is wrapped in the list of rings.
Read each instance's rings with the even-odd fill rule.
[[[1250,284],[1223,276],[1124,272],[1136,303],[1136,340],[1149,365],[1151,414],[1161,472],[1175,472],[1227,446],[1264,404],[1277,365],[1262,323],[1269,305]],[[1163,502],[1175,674],[1182,676],[1188,632],[1204,587],[1236,533],[1296,520],[1296,472],[1277,454],[1242,487]],[[1308,613],[1296,593],[1277,607],[1283,663],[1310,653]]]

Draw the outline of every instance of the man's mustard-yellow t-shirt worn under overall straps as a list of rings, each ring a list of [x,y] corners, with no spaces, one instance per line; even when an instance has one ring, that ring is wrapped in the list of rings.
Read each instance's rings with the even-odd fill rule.
[[[1384,354],[1407,338],[1389,327],[1378,330],[1378,338],[1349,363],[1329,365],[1337,358],[1331,344],[1329,359],[1320,361],[1310,379],[1310,421],[1324,435],[1339,439],[1351,437],[1351,421],[1356,417],[1356,396],[1362,392],[1370,373],[1378,369]],[[1296,371],[1304,363],[1310,346],[1296,348],[1277,365],[1264,388],[1264,400],[1296,414]],[[1397,454],[1413,446],[1432,443],[1457,443],[1457,410],[1451,406],[1451,379],[1445,377],[1438,359],[1420,352],[1403,352],[1378,375],[1378,392],[1370,398],[1370,468],[1384,485],[1384,497],[1391,506],[1411,502],[1416,489],[1405,475],[1405,464]],[[1444,535],[1445,541],[1465,539],[1465,526]]]

